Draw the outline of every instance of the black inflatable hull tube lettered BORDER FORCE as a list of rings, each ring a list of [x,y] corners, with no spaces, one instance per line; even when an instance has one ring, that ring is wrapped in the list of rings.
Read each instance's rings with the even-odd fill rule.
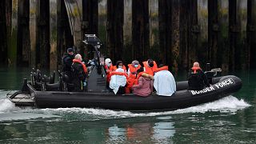
[[[109,110],[177,110],[202,103],[212,102],[238,91],[242,81],[235,76],[214,78],[214,85],[204,90],[178,90],[170,97],[151,94],[140,97],[134,94],[33,91],[34,105],[38,108],[87,107]],[[219,82],[218,82],[219,81]],[[178,89],[187,82],[178,82]]]

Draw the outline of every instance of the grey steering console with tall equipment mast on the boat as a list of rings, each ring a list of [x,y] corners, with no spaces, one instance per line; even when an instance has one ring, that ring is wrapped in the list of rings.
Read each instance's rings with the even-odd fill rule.
[[[102,42],[96,37],[95,34],[86,34],[85,42],[88,46],[93,46],[91,52],[94,53],[94,65],[91,66],[90,75],[87,81],[87,90],[89,92],[106,92],[106,72],[102,63],[100,62],[99,49]]]

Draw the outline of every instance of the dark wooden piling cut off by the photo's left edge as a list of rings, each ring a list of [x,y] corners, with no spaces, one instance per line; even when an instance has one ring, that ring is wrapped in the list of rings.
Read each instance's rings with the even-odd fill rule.
[[[6,1],[0,1],[0,63],[7,64]]]

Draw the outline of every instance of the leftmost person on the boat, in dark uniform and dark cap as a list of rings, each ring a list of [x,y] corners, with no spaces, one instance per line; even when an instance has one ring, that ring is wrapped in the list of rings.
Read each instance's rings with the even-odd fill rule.
[[[73,59],[74,59],[73,48],[68,48],[66,50],[66,54],[64,54],[63,58],[62,58],[62,64],[63,64],[62,72],[69,77],[70,82],[71,82],[71,79],[72,79],[71,65],[73,63]]]

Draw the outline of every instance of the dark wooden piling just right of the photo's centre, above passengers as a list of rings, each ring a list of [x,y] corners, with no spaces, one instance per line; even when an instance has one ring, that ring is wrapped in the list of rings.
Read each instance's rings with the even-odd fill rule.
[[[150,47],[149,0],[132,2],[132,58],[142,62]]]

